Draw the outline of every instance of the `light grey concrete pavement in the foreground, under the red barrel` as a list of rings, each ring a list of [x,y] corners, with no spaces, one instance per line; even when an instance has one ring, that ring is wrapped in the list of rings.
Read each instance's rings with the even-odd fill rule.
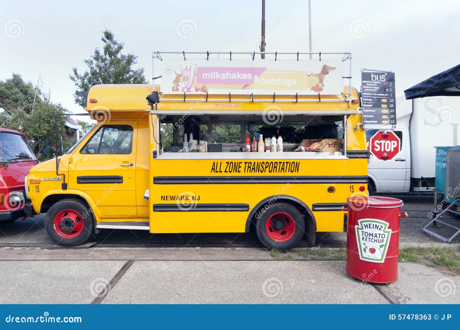
[[[342,261],[0,261],[0,303],[460,303],[460,276],[400,263],[393,284]]]

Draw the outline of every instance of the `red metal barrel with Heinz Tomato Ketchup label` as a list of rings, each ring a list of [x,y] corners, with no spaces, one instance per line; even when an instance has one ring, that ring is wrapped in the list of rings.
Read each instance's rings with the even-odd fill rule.
[[[346,272],[371,283],[398,279],[401,199],[355,196],[347,199]]]

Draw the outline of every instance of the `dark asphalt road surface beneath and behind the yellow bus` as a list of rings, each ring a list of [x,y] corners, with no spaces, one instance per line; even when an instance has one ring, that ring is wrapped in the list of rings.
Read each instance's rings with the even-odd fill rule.
[[[421,228],[429,222],[429,212],[432,209],[432,196],[393,196],[404,201],[403,211],[407,210],[409,217],[401,218],[400,241],[430,243],[440,242],[438,239],[421,231]],[[0,246],[5,243],[37,243],[52,244],[51,239],[43,228],[44,215],[17,220],[15,222],[0,222]],[[459,220],[450,221],[460,225]],[[452,235],[454,231],[448,227],[435,229],[443,235]],[[318,233],[318,243],[329,246],[345,246],[345,233]],[[240,234],[155,234],[147,231],[129,230],[104,230],[94,239],[106,246],[124,245],[156,245],[156,246],[260,246],[259,240],[253,233]],[[460,243],[460,235],[454,241]],[[303,242],[303,245],[307,245]]]

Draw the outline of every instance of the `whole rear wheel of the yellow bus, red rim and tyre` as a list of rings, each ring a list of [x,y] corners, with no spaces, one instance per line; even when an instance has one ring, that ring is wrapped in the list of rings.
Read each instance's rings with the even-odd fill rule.
[[[265,209],[256,222],[257,236],[266,247],[289,250],[305,233],[302,213],[293,205],[276,203]]]

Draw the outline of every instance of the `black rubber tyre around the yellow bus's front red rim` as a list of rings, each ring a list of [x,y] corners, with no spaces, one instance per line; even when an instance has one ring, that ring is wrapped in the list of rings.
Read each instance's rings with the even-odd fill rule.
[[[64,210],[71,210],[73,211],[75,218],[74,222],[70,223],[70,227],[72,228],[71,225],[74,224],[75,222],[77,223],[82,223],[80,230],[73,232],[72,229],[70,229],[68,232],[63,231],[60,228],[55,228],[54,226],[54,221],[55,218],[59,215],[61,216],[61,212]],[[72,212],[70,212],[72,213]],[[63,220],[64,221],[66,216],[68,216],[69,213],[64,212],[63,213]],[[80,219],[80,220],[79,220]],[[74,220],[74,219],[71,219]],[[74,228],[76,228],[74,226]],[[56,204],[52,205],[48,212],[46,212],[45,216],[45,230],[48,236],[58,245],[62,246],[76,246],[76,245],[81,245],[88,241],[88,239],[92,238],[95,236],[94,234],[94,217],[92,215],[92,212],[89,211],[88,206],[85,203],[82,203],[78,199],[63,199],[58,201]],[[69,233],[69,235],[78,235],[75,237],[70,237],[66,238],[61,236],[59,233]]]

